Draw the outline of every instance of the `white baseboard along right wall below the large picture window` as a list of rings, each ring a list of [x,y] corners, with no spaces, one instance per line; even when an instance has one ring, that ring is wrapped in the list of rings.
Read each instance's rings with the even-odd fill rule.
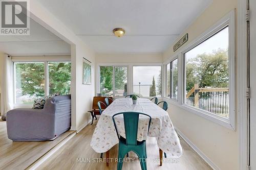
[[[179,129],[177,129],[175,127],[175,130],[178,132],[178,134],[180,135],[180,137],[182,137],[187,144],[212,168],[215,170],[220,170],[220,168],[214,163],[212,162],[199,148],[197,148],[197,146],[191,142]]]

